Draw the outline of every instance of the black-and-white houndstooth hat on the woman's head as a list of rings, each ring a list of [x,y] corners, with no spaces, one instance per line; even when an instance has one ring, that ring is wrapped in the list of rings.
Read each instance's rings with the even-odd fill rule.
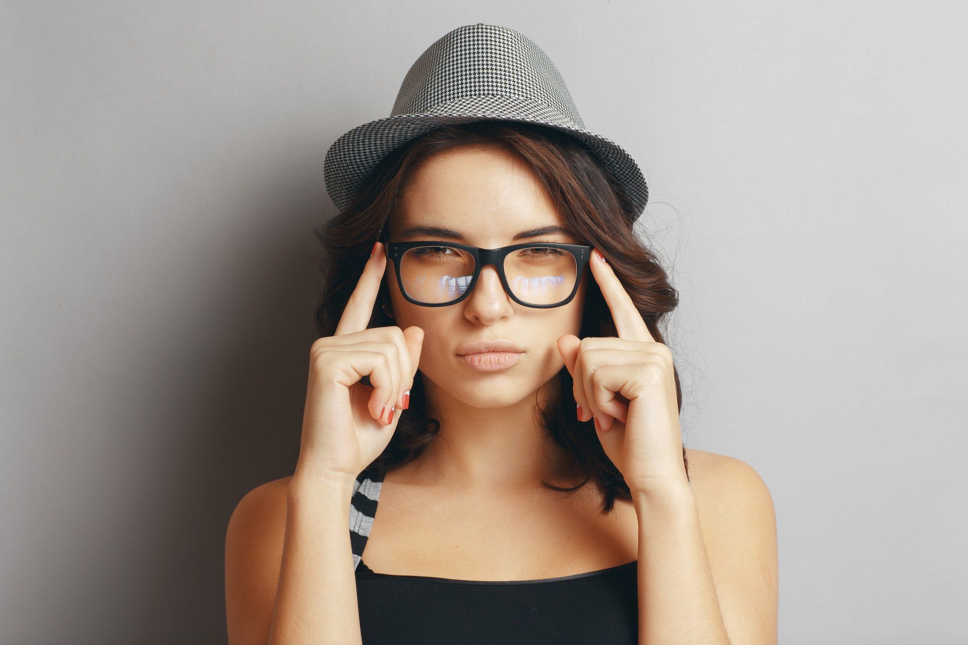
[[[478,22],[458,27],[430,45],[410,67],[390,116],[353,128],[326,152],[323,176],[343,210],[379,161],[425,132],[489,119],[540,124],[587,143],[635,206],[649,201],[642,170],[617,143],[585,130],[561,74],[526,36]]]

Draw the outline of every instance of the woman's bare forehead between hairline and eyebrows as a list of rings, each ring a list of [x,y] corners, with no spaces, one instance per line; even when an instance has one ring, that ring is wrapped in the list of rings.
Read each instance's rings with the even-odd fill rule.
[[[478,241],[561,224],[544,185],[516,155],[490,146],[438,153],[411,174],[391,226],[446,226]]]

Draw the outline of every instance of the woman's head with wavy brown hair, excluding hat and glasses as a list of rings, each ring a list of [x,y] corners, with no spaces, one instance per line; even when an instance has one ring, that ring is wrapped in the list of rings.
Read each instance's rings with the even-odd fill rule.
[[[600,249],[652,337],[662,342],[657,323],[676,307],[678,294],[657,258],[634,235],[633,211],[620,185],[594,161],[586,145],[566,133],[504,121],[428,132],[384,158],[354,202],[317,228],[326,251],[318,334],[334,333],[370,249],[385,228],[390,242],[434,240],[482,249],[553,242]],[[543,233],[519,237],[542,228]],[[375,467],[392,470],[408,463],[439,433],[439,423],[427,415],[428,387],[475,407],[507,406],[533,397],[549,439],[570,456],[576,473],[603,490],[603,511],[611,511],[616,497],[629,498],[591,422],[575,418],[571,377],[557,348],[558,338],[566,334],[617,336],[589,270],[580,276],[574,298],[555,308],[514,302],[494,266],[481,268],[460,303],[422,307],[404,298],[394,272],[391,258],[371,326],[415,325],[424,330],[424,343],[410,407]],[[459,355],[462,347],[488,339],[508,340],[524,352],[514,366],[497,372],[473,369]],[[676,385],[681,405],[678,376]]]

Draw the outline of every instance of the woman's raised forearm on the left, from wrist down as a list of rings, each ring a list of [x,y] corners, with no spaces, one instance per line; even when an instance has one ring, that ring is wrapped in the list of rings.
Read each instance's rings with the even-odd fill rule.
[[[361,643],[349,543],[352,483],[296,474],[268,645]]]

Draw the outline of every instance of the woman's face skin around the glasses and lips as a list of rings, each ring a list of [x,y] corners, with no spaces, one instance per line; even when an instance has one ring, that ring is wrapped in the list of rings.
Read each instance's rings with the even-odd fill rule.
[[[526,242],[584,244],[564,232],[515,238],[523,231],[562,225],[544,187],[517,157],[498,148],[469,146],[439,153],[410,177],[391,218],[391,242],[435,240],[482,249]],[[451,229],[457,236],[409,231],[416,226]],[[488,265],[468,297],[456,305],[421,307],[400,293],[395,269],[387,261],[386,280],[396,324],[424,330],[420,371],[436,387],[475,407],[500,407],[533,394],[564,366],[558,338],[579,335],[587,277],[567,305],[529,308],[514,302]],[[467,343],[508,340],[523,352],[512,366],[482,370],[486,358],[463,358]]]

